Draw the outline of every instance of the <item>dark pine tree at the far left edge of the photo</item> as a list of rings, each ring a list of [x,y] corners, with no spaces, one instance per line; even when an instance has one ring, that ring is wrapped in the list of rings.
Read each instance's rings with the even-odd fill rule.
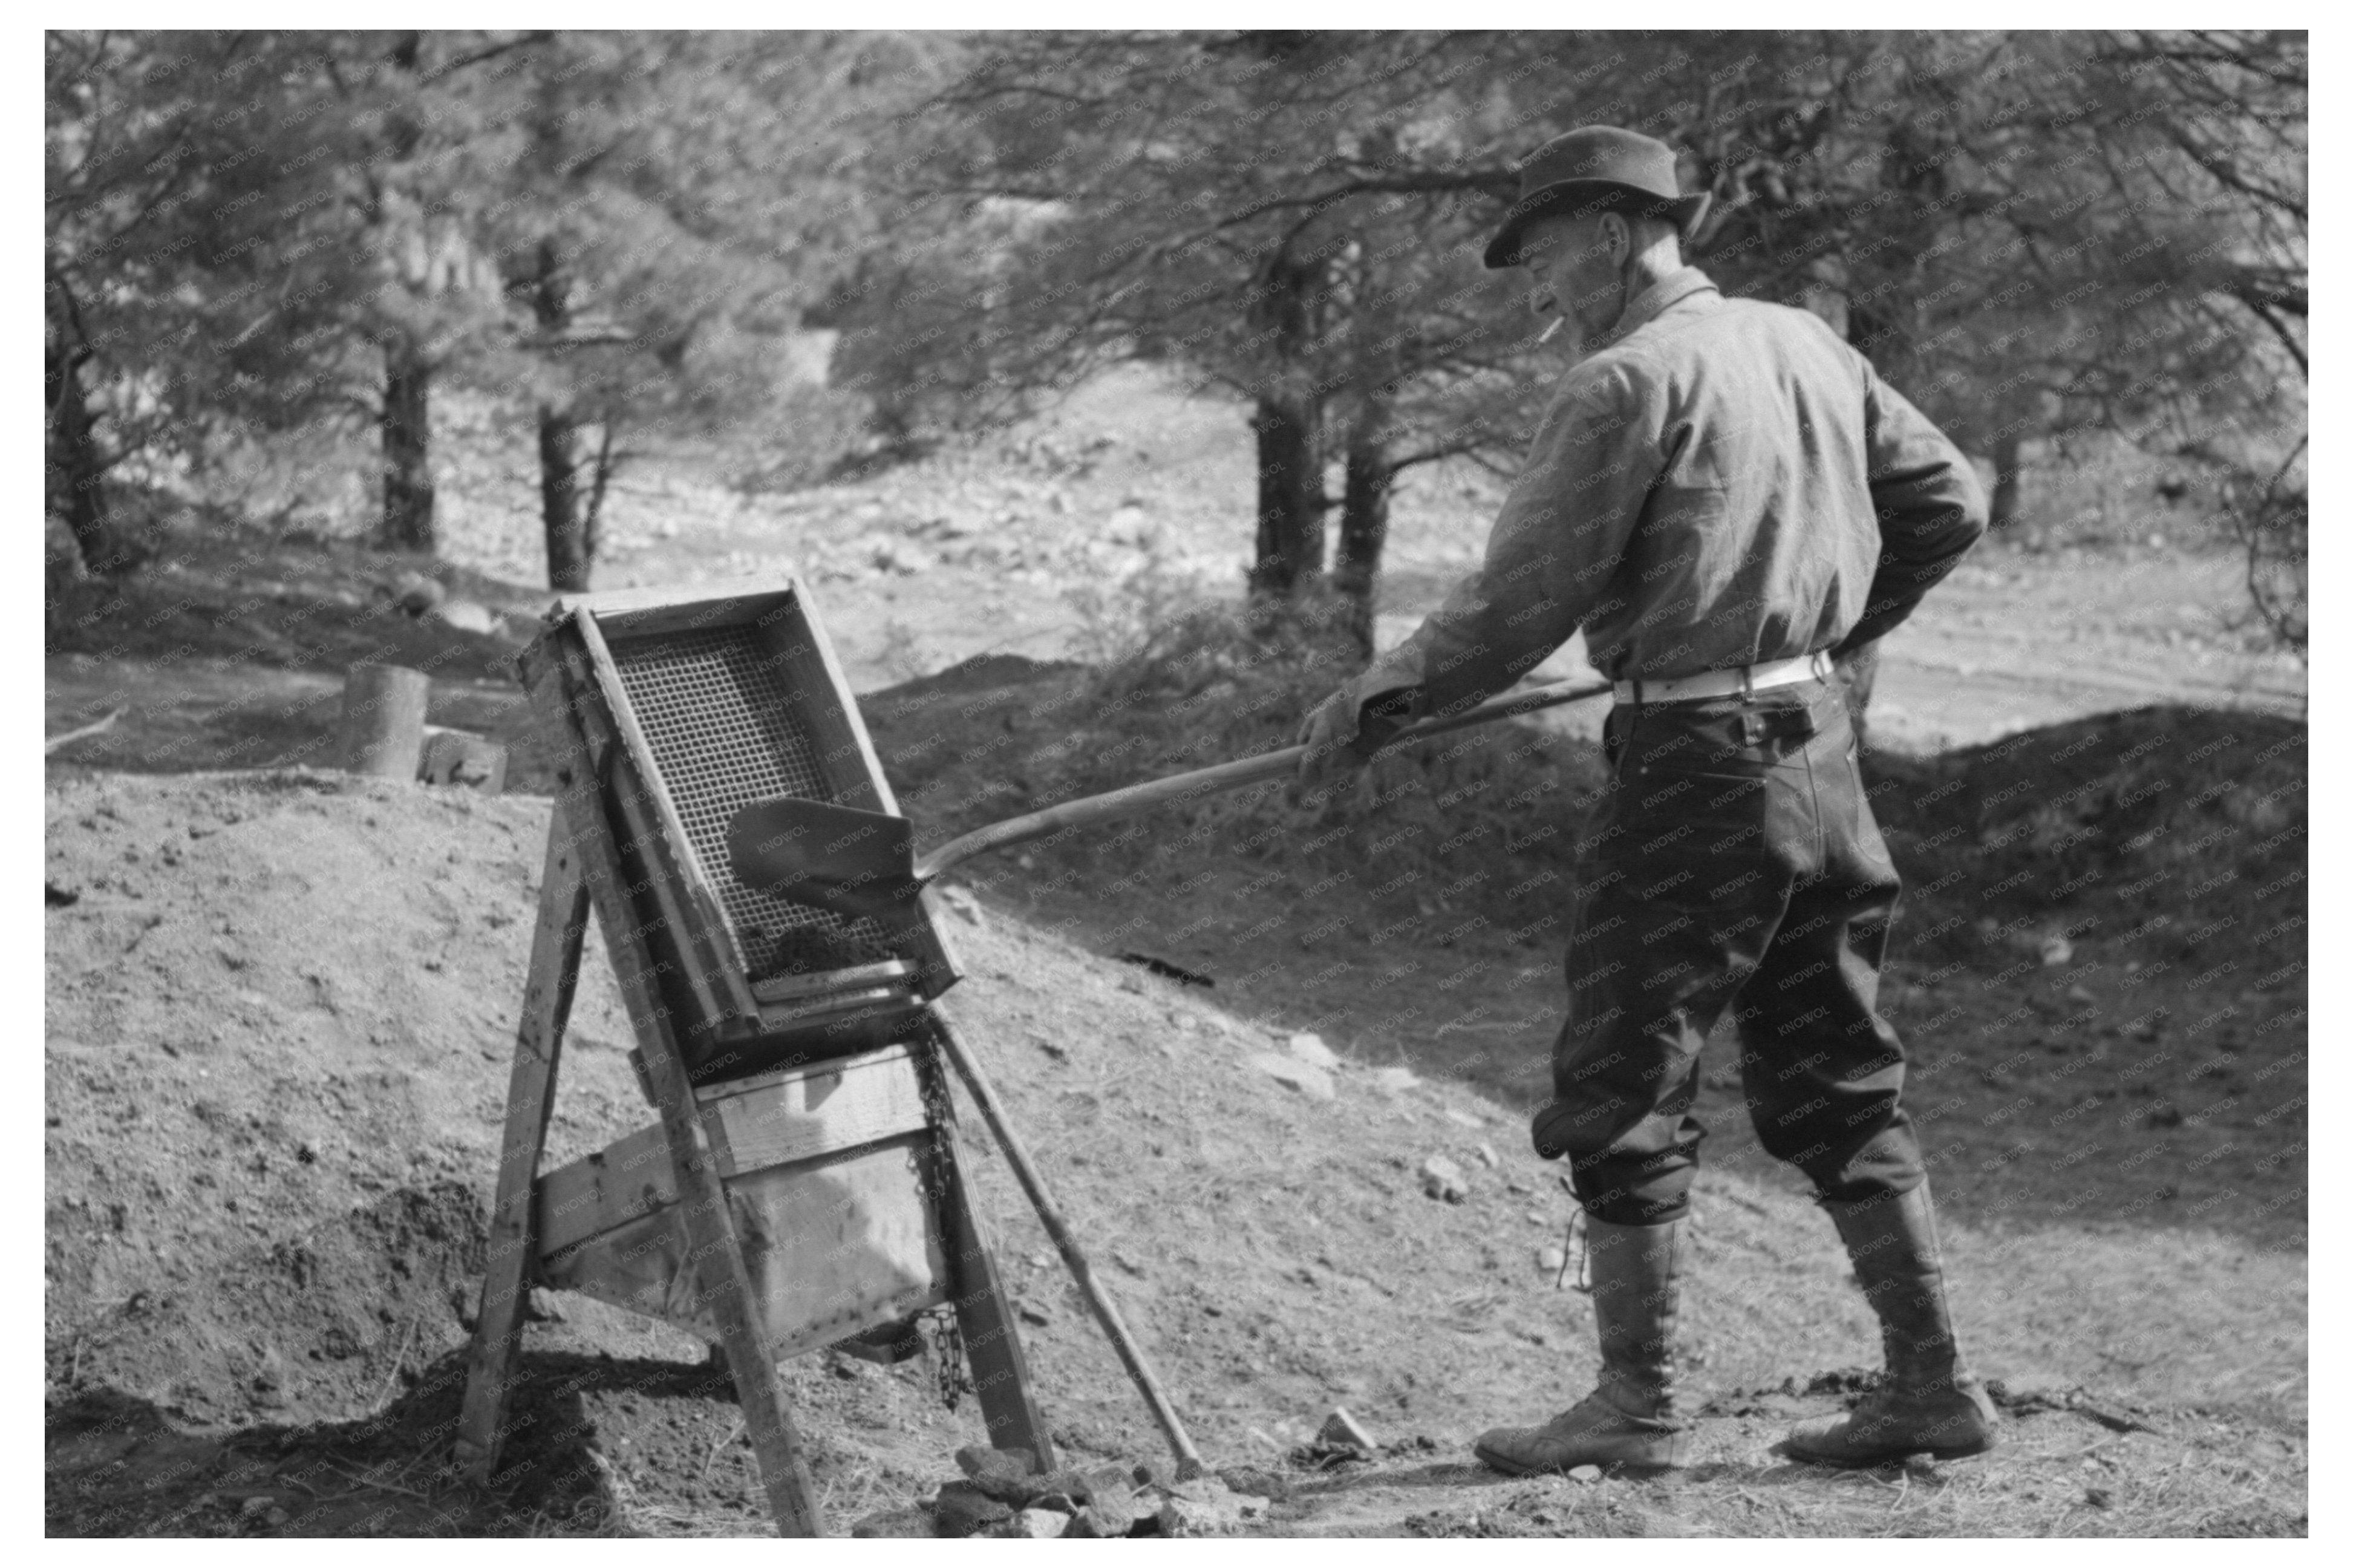
[[[122,476],[332,403],[341,127],[287,151],[304,49],[273,35],[54,31],[45,66],[47,497],[115,572],[144,553],[113,516]]]

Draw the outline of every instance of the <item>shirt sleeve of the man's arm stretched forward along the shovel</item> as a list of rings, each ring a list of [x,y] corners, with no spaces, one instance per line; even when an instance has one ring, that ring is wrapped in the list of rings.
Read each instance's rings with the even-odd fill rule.
[[[1365,704],[1393,723],[1459,713],[1541,664],[1600,603],[1657,473],[1659,414],[1635,374],[1624,363],[1569,372],[1480,570],[1374,659],[1358,683]]]

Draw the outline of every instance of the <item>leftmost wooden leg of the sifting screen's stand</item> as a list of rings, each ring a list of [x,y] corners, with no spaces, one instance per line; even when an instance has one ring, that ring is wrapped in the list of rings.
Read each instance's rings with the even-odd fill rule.
[[[548,1142],[555,1064],[565,1048],[586,935],[588,883],[581,878],[581,857],[558,800],[548,817],[548,859],[539,873],[539,928],[532,932],[532,970],[522,991],[522,1022],[515,1026],[515,1067],[506,1083],[506,1144],[499,1149],[499,1196],[489,1215],[489,1264],[482,1276],[482,1307],[473,1321],[466,1406],[456,1424],[459,1469],[480,1483],[489,1483],[499,1464],[506,1394],[522,1349],[522,1300],[539,1262],[532,1184]]]

